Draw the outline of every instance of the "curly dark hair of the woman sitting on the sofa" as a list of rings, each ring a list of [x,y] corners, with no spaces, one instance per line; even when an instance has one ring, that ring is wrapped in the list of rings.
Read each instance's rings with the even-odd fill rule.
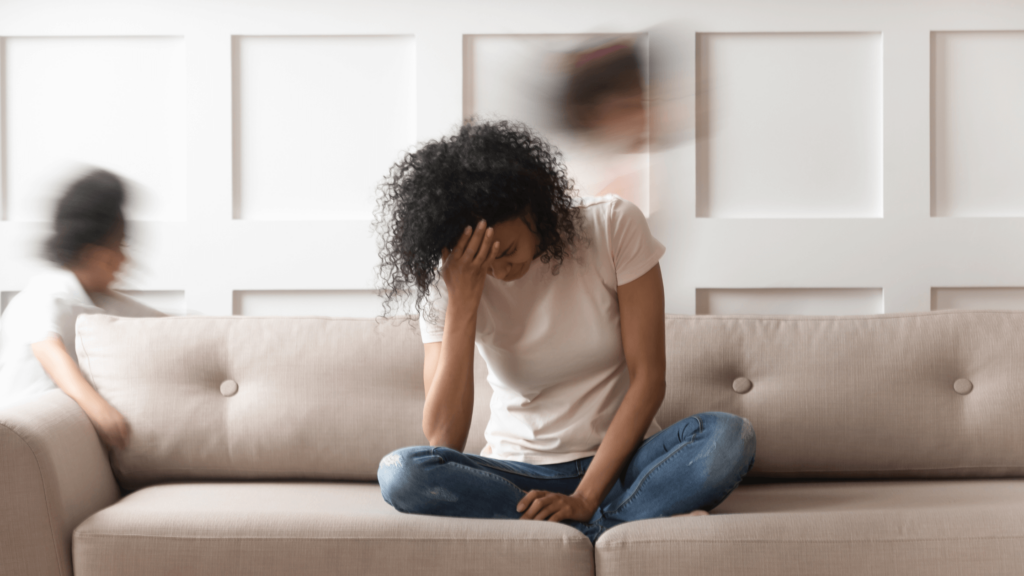
[[[459,132],[407,154],[378,187],[374,228],[384,317],[396,300],[415,296],[432,318],[427,297],[439,276],[441,249],[455,247],[467,225],[532,218],[538,256],[562,261],[582,238],[574,184],[561,153],[512,121],[470,121]],[[524,220],[525,221],[525,220]]]

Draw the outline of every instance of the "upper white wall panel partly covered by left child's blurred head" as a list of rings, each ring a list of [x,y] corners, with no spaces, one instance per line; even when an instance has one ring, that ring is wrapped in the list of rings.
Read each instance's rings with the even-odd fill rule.
[[[176,37],[4,40],[8,220],[42,221],[91,167],[132,184],[128,216],[184,217],[184,42]]]

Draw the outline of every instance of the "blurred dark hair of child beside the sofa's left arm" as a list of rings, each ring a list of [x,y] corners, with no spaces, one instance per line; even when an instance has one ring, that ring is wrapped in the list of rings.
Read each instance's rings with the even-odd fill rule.
[[[105,170],[93,170],[72,182],[53,217],[46,257],[62,266],[78,263],[86,246],[114,247],[125,237],[125,187]]]

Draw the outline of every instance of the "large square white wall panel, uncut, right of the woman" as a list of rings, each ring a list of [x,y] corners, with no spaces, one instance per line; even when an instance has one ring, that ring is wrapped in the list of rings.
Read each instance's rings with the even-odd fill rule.
[[[881,34],[698,34],[697,215],[882,216]]]

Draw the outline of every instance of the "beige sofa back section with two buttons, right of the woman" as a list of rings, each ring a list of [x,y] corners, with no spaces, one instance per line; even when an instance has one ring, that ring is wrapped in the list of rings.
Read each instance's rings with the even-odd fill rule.
[[[1024,477],[1024,313],[672,317],[666,330],[658,421],[748,418],[751,478]]]

